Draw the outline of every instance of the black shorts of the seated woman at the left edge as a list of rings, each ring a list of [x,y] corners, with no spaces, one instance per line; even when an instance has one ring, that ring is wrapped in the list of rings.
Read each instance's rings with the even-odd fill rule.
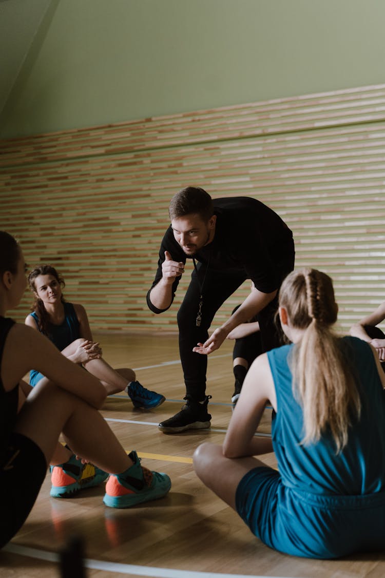
[[[46,473],[39,446],[21,433],[12,433],[0,465],[0,548],[27,520]]]

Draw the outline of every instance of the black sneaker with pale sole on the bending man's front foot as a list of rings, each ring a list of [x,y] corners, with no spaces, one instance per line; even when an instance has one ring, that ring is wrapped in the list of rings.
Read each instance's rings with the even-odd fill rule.
[[[181,411],[158,425],[162,432],[179,433],[185,429],[210,428],[211,415],[207,413],[207,404],[211,395],[206,395],[204,403],[199,403],[188,395],[184,399],[186,403]]]

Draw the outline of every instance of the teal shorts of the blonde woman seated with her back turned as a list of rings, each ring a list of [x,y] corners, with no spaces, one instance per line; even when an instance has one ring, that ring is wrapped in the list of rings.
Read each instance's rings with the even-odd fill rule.
[[[267,546],[305,558],[339,558],[385,549],[385,492],[319,495],[283,486],[265,466],[248,472],[236,491],[236,509]]]

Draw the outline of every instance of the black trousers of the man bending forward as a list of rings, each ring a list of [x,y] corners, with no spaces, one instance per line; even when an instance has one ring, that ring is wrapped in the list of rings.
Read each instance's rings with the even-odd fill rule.
[[[293,270],[294,251],[282,264],[281,281],[287,273]],[[202,283],[205,274],[205,265],[198,264],[197,270]],[[196,316],[199,306],[200,286],[197,282],[197,273],[193,271],[185,298],[178,311],[179,350],[184,371],[186,394],[197,401],[205,396],[207,355],[194,353],[193,347],[197,343],[204,343],[208,338],[208,329],[219,307],[241,286],[246,280],[243,272],[212,271],[210,268],[204,281],[203,306],[200,327],[196,326]],[[281,344],[281,333],[276,328],[274,316],[278,307],[278,297],[271,301],[257,318],[260,326],[261,347],[269,351]]]

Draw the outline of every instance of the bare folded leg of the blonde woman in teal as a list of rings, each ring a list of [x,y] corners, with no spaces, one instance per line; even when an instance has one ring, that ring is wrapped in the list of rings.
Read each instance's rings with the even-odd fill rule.
[[[196,475],[219,498],[236,509],[236,491],[242,477],[250,470],[266,466],[253,457],[226,458],[222,446],[203,443],[195,450],[193,465]]]

